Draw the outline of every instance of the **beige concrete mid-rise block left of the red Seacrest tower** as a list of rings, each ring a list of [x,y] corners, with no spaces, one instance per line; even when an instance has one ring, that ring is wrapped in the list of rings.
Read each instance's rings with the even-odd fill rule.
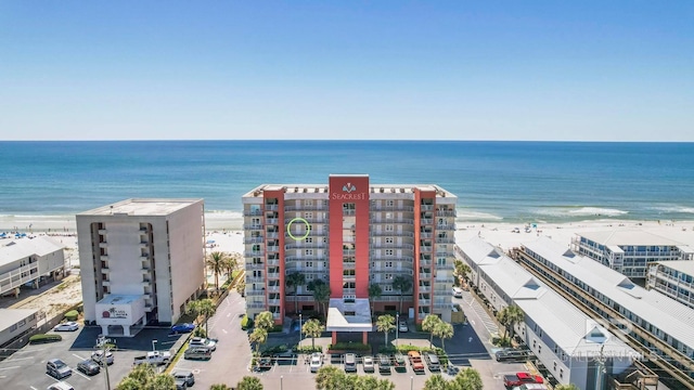
[[[77,214],[85,322],[131,336],[176,323],[205,283],[202,199],[127,199]]]

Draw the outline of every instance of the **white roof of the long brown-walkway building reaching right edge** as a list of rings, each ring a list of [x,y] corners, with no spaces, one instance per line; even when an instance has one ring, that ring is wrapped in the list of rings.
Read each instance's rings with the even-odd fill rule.
[[[645,322],[694,349],[694,309],[633,284],[621,273],[590,258],[575,255],[548,237],[523,245],[583,282]],[[565,256],[566,255],[566,256]]]

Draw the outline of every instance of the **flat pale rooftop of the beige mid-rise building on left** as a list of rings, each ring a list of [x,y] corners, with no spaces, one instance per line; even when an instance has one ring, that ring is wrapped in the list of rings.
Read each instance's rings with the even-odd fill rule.
[[[203,202],[203,199],[126,199],[112,205],[83,211],[77,216],[168,216],[200,202]]]

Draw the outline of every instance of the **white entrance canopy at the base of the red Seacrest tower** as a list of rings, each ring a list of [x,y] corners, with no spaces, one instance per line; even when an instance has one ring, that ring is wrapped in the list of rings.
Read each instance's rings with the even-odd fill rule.
[[[331,298],[325,330],[372,332],[369,299],[357,298],[345,302],[342,298]]]

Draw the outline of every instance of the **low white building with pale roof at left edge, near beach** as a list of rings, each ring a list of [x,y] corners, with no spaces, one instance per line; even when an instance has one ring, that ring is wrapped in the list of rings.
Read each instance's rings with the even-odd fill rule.
[[[41,278],[60,278],[65,246],[50,237],[18,238],[0,244],[0,295],[18,295],[20,287],[38,287]]]

